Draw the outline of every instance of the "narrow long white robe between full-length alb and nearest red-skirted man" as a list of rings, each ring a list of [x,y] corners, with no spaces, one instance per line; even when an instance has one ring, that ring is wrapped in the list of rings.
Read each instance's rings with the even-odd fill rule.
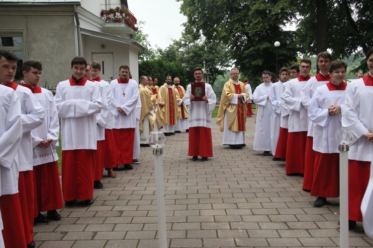
[[[274,83],[270,91],[270,105],[272,107],[271,114],[271,146],[272,155],[275,155],[277,142],[280,135],[281,123],[281,96],[283,95],[283,82],[278,81]]]

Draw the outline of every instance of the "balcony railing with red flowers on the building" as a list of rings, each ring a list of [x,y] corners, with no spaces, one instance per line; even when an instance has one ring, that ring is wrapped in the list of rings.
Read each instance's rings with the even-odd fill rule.
[[[114,5],[114,6],[112,6]],[[109,8],[107,8],[109,6]],[[136,27],[137,19],[129,9],[122,4],[101,4],[101,18],[107,22],[118,22],[118,23],[127,23],[128,26],[134,30],[138,30]]]

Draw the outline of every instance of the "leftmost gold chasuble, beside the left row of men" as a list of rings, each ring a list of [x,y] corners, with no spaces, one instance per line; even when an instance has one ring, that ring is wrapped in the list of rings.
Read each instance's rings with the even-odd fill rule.
[[[150,114],[149,110],[153,109],[154,103],[152,98],[155,100],[155,97],[152,95],[151,91],[145,88],[143,85],[139,84],[140,99],[141,99],[141,113],[139,120],[139,129],[140,133],[143,132],[143,120],[146,115],[149,117],[149,126],[150,131],[155,127],[156,116],[155,114]]]

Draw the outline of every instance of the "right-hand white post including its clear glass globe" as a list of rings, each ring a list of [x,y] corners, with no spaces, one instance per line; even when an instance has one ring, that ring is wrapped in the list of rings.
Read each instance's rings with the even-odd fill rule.
[[[348,151],[352,141],[352,132],[349,128],[337,129],[335,133],[337,143],[339,143],[339,192],[340,192],[340,247],[349,247],[349,169]]]

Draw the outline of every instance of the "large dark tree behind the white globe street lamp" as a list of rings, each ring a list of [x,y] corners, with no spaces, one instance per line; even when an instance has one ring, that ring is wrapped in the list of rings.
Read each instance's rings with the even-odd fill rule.
[[[297,8],[291,0],[177,0],[187,16],[186,34],[193,40],[220,41],[240,71],[250,77],[264,69],[276,71],[275,41],[279,67],[296,61],[295,31],[284,30],[295,19]]]

